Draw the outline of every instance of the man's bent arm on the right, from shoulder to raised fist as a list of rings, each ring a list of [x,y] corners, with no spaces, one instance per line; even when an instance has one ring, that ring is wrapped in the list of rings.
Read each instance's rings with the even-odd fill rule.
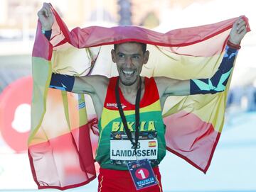
[[[225,55],[213,77],[190,80],[177,80],[166,77],[156,78],[160,96],[215,94],[224,91],[233,69],[235,57],[240,49],[240,42],[246,33],[246,23],[242,18],[239,18],[230,31],[230,38],[225,47]]]

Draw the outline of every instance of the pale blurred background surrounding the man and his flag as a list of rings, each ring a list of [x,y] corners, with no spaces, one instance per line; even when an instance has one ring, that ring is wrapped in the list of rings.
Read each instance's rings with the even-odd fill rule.
[[[247,16],[228,95],[225,125],[207,174],[168,152],[164,191],[256,191],[256,10],[253,0],[51,0],[70,28],[135,25],[176,28]],[[36,191],[26,152],[31,52],[41,0],[0,0],[0,191]],[[56,190],[45,190],[56,191]],[[97,179],[68,191],[97,191]]]

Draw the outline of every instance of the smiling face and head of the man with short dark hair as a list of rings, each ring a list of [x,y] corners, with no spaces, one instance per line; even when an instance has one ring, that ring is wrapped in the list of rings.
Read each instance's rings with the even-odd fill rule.
[[[130,86],[139,80],[143,64],[149,59],[149,51],[143,53],[139,43],[122,43],[111,51],[112,61],[117,64],[119,79],[122,84]]]

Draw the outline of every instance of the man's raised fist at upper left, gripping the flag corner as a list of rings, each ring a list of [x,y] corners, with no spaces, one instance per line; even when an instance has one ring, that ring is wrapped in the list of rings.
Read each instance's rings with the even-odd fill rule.
[[[43,7],[38,11],[38,18],[42,24],[42,30],[51,30],[54,22],[53,12],[50,4],[43,3]]]

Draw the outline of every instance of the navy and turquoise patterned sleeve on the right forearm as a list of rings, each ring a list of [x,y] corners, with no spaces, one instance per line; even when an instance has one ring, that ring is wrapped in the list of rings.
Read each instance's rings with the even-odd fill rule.
[[[233,70],[238,50],[232,45],[225,47],[225,55],[217,72],[210,79],[191,79],[191,94],[215,94],[225,90],[228,79]]]

